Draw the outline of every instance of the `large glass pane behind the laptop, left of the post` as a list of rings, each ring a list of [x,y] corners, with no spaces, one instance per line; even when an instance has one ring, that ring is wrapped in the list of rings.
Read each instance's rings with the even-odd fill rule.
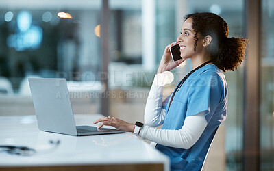
[[[74,111],[97,111],[89,104],[101,91],[101,1],[0,4],[0,113],[34,114],[29,77],[65,78]]]

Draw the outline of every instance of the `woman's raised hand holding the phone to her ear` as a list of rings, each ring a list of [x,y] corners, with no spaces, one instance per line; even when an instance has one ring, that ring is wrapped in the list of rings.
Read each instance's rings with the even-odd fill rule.
[[[179,64],[185,61],[185,59],[180,59],[175,62],[172,60],[171,51],[169,50],[169,48],[176,44],[178,44],[178,42],[173,42],[167,45],[166,48],[164,49],[164,54],[162,55],[162,60],[160,62],[160,66],[158,68],[157,73],[173,70],[175,67],[179,66]]]

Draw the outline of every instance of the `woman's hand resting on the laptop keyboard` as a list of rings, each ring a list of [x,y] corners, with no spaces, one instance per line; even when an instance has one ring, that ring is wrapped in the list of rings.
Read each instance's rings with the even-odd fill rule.
[[[134,132],[134,127],[135,127],[134,124],[125,122],[123,120],[119,120],[114,117],[110,117],[110,116],[103,117],[93,122],[93,124],[97,124],[99,122],[102,122],[102,123],[99,125],[99,127],[97,127],[97,129],[100,129],[101,127],[103,127],[103,125],[108,125],[123,131],[132,132],[132,133]]]

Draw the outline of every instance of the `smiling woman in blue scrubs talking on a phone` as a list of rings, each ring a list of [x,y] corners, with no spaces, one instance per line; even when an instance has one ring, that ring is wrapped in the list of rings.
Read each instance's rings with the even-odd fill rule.
[[[235,70],[245,58],[247,40],[228,38],[227,23],[216,14],[195,13],[185,16],[177,42],[164,49],[145,108],[145,127],[117,118],[102,122],[117,129],[134,132],[156,142],[155,148],[169,156],[171,170],[201,170],[208,148],[219,125],[227,115],[227,83],[223,70]],[[173,62],[169,47],[179,44],[181,60]],[[190,72],[164,101],[163,86],[157,79],[184,60],[192,60]],[[163,125],[162,125],[163,124]],[[155,129],[162,125],[162,129]],[[149,127],[151,126],[151,127]]]

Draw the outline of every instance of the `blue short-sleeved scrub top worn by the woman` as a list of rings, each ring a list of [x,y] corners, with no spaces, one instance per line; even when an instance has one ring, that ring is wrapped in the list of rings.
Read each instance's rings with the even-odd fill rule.
[[[182,129],[187,116],[202,111],[205,112],[208,126],[199,140],[189,149],[161,144],[157,144],[155,148],[169,156],[171,170],[201,170],[216,129],[225,121],[227,115],[225,75],[214,64],[203,66],[186,79],[183,86],[175,93],[170,106],[169,103],[169,98],[163,102],[162,107],[166,111],[169,108],[169,111],[166,113],[162,129]]]

